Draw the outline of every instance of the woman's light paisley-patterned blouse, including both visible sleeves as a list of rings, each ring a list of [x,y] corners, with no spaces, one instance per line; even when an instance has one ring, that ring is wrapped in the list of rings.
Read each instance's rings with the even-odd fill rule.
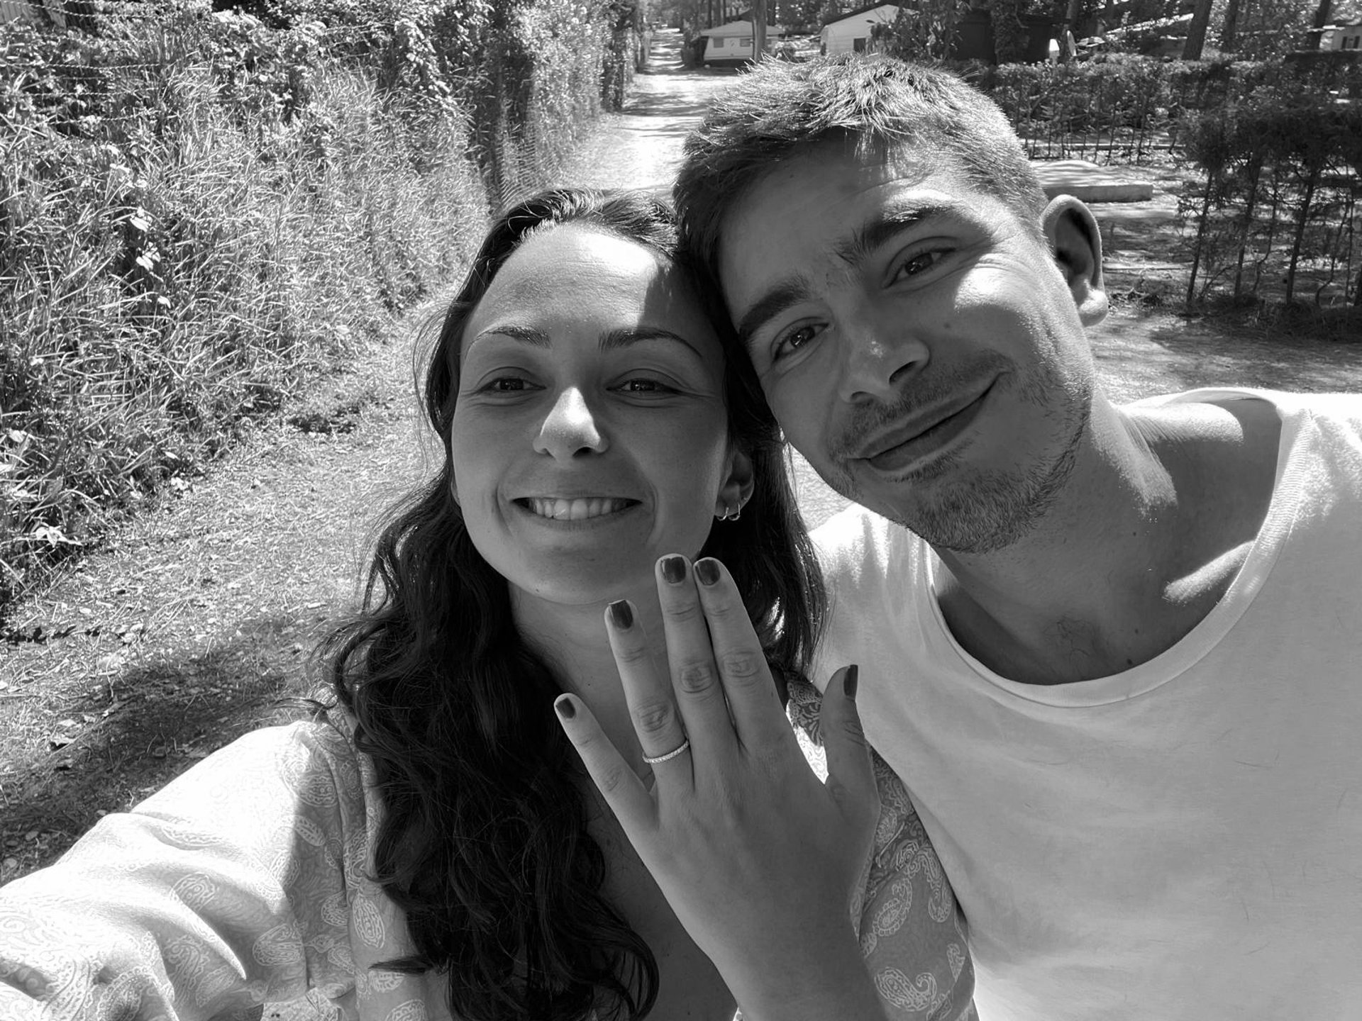
[[[813,741],[817,698],[791,693]],[[406,928],[366,878],[373,766],[334,723],[247,734],[0,888],[0,1018],[449,1018],[437,975],[373,968],[406,952]],[[854,915],[887,1014],[972,1017],[955,897],[902,785],[876,769]]]

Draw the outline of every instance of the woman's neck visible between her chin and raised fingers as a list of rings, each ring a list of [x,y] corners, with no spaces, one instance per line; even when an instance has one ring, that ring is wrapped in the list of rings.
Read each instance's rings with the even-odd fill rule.
[[[635,609],[633,626],[644,629],[652,648],[654,668],[665,675],[667,656],[656,592],[651,587],[643,592],[631,592],[629,602]],[[564,689],[587,704],[606,736],[635,772],[644,772],[643,753],[606,637],[606,603],[565,606],[512,587],[511,607],[516,630],[526,643],[548,662]]]

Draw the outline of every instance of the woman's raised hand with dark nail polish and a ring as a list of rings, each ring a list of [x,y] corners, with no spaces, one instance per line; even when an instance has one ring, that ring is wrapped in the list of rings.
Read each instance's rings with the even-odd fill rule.
[[[632,607],[606,610],[654,785],[571,694],[556,702],[568,738],[745,1017],[883,1018],[850,915],[878,815],[855,667],[823,698],[823,784],[727,570],[663,557],[658,595],[670,678],[654,668]]]

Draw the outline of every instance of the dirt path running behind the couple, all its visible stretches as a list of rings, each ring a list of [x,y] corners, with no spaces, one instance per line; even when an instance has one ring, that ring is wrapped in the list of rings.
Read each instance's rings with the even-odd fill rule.
[[[667,189],[686,129],[733,74],[682,71],[677,42],[658,39],[628,108],[564,180]],[[0,882],[315,681],[308,653],[353,604],[366,531],[424,471],[410,373],[421,319],[320,384],[330,432],[262,430],[16,607],[16,640],[0,645]],[[1220,336],[1171,316],[1117,313],[1094,347],[1121,398],[1208,381],[1362,387],[1362,346]],[[812,524],[844,502],[804,466],[798,482]]]

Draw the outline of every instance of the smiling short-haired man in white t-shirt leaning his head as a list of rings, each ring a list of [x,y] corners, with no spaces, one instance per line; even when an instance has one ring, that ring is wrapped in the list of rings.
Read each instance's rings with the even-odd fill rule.
[[[1362,399],[1114,406],[1092,215],[945,74],[761,65],[677,201],[866,508],[816,535],[814,675],[861,666],[981,1018],[1362,1017]]]

